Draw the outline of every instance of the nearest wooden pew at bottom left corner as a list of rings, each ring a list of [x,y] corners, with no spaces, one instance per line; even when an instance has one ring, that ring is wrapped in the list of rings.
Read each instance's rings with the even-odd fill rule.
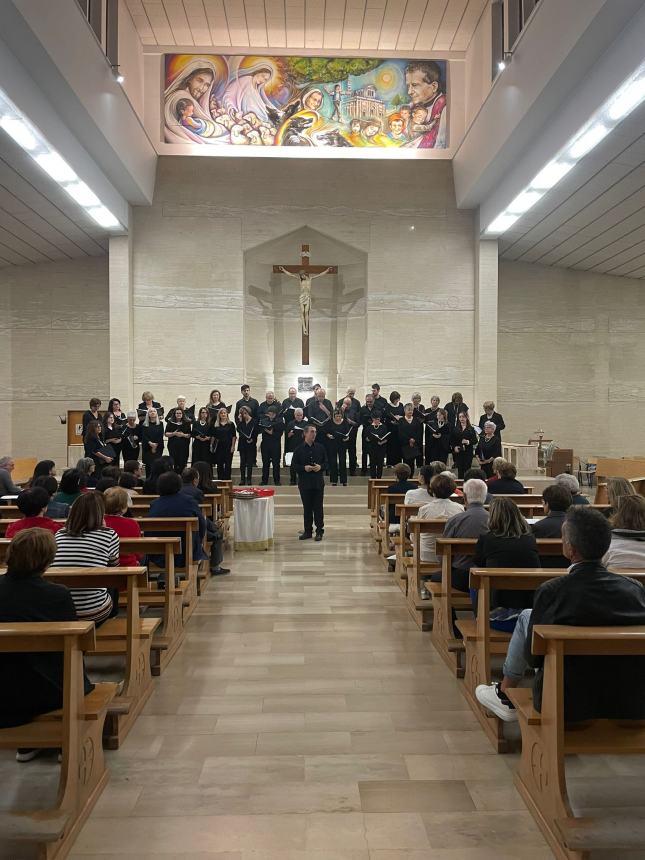
[[[44,860],[63,860],[108,781],[101,735],[116,684],[97,684],[84,696],[83,652],[95,647],[92,622],[0,624],[1,653],[62,652],[64,675],[60,710],[24,726],[0,729],[2,749],[62,751],[56,803],[47,809],[0,813],[2,856],[22,856],[27,848]]]

